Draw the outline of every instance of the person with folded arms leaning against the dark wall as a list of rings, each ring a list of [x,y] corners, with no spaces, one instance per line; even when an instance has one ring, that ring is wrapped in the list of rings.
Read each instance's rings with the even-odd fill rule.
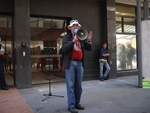
[[[108,79],[108,73],[110,71],[110,66],[107,62],[107,57],[109,56],[108,50],[107,50],[107,43],[103,43],[103,47],[100,50],[100,57],[99,57],[99,67],[100,67],[100,80],[104,81],[105,79]],[[106,70],[103,72],[103,67],[105,66]]]

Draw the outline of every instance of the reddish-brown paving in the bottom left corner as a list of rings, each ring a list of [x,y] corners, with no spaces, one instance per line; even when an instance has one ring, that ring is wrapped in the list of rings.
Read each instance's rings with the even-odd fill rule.
[[[10,87],[0,90],[0,113],[34,113],[19,91]]]

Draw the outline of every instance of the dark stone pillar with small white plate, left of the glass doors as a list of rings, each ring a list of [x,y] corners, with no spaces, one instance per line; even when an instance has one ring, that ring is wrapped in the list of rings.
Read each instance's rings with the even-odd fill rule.
[[[30,88],[30,0],[14,0],[13,34],[15,86]],[[26,47],[21,46],[22,42],[26,43]]]

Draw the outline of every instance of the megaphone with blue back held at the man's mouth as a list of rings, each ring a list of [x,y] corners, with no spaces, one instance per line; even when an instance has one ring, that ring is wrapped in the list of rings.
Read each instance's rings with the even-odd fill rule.
[[[88,37],[88,31],[85,28],[75,29],[74,34],[79,40],[85,40]]]

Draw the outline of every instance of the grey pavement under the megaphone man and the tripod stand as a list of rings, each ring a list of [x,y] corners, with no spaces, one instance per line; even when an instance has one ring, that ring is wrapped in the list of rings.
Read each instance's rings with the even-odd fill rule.
[[[79,113],[150,113],[150,89],[138,88],[138,77],[128,76],[107,81],[83,81],[81,104],[85,110]],[[69,113],[65,83],[52,83],[48,97],[48,84],[19,90],[35,113]]]

